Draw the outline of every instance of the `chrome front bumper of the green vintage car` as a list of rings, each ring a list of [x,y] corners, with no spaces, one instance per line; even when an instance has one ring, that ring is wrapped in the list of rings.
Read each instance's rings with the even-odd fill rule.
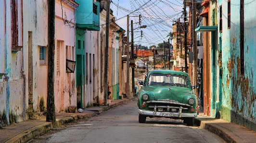
[[[139,114],[141,115],[146,115],[146,116],[153,116],[153,117],[166,117],[166,118],[171,118],[171,117],[197,117],[197,113],[181,113],[181,110],[179,112],[165,112],[165,113],[171,113],[171,117],[167,116],[161,116],[160,113],[161,111],[148,111],[148,110],[140,110],[138,109]]]

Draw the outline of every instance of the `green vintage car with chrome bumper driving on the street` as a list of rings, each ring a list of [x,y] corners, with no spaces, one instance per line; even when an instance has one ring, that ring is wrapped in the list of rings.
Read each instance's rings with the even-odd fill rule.
[[[146,117],[164,117],[183,120],[193,125],[197,117],[197,100],[191,86],[190,77],[185,72],[172,70],[151,70],[139,82],[138,94],[139,122],[145,123]]]

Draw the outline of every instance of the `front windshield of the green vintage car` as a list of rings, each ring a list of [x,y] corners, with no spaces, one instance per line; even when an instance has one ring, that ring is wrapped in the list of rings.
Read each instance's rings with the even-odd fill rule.
[[[151,74],[148,85],[168,85],[189,88],[187,76],[174,74]]]

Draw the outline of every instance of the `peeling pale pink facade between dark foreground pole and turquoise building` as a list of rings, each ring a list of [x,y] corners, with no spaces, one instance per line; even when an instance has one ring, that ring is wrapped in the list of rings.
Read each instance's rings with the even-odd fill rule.
[[[68,112],[69,106],[77,106],[75,74],[66,73],[66,59],[75,61],[75,11],[73,0],[55,0],[55,111]]]

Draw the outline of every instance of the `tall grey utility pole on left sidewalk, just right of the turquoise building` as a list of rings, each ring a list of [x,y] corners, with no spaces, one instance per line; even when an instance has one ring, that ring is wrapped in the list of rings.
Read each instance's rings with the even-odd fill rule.
[[[106,6],[106,33],[105,33],[105,53],[104,53],[104,106],[107,106],[107,89],[108,89],[108,46],[109,46],[109,11],[110,0],[107,0]]]

